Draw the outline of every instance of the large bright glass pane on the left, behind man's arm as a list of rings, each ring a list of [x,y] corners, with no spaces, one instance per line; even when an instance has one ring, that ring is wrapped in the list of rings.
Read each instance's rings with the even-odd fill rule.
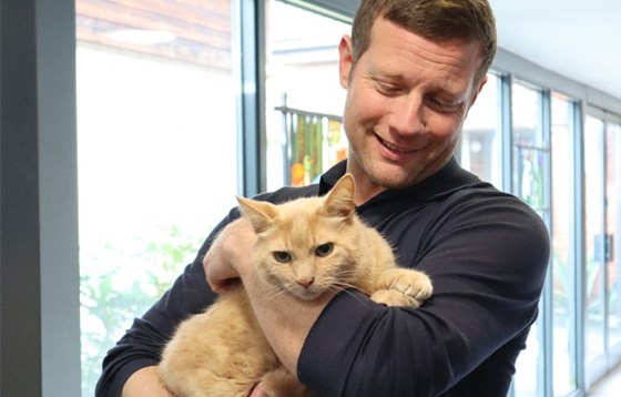
[[[78,0],[83,395],[234,205],[231,4]]]

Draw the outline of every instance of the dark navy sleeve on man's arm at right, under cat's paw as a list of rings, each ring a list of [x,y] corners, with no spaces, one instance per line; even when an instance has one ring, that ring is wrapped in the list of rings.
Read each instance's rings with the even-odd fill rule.
[[[449,390],[471,374],[499,389],[510,383],[538,313],[547,228],[515,197],[440,210],[391,233],[401,264],[431,277],[430,299],[419,309],[385,307],[343,292],[315,323],[297,368],[322,396],[499,396],[482,383],[474,394]]]

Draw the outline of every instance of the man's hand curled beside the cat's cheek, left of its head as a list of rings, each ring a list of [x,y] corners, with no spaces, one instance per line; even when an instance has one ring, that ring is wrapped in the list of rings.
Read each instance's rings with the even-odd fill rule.
[[[213,242],[203,259],[207,283],[221,293],[253,266],[256,234],[244,217],[228,224]]]

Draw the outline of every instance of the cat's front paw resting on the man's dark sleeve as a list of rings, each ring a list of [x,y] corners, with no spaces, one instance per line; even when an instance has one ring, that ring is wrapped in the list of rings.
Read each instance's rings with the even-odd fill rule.
[[[419,307],[434,293],[431,279],[411,268],[389,268],[379,275],[370,298],[387,306]]]

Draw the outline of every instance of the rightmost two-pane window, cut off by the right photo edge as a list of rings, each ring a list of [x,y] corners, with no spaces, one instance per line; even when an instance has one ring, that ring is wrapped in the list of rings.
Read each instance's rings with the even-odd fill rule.
[[[584,129],[586,352],[589,385],[621,358],[618,253],[619,119],[591,109]]]

